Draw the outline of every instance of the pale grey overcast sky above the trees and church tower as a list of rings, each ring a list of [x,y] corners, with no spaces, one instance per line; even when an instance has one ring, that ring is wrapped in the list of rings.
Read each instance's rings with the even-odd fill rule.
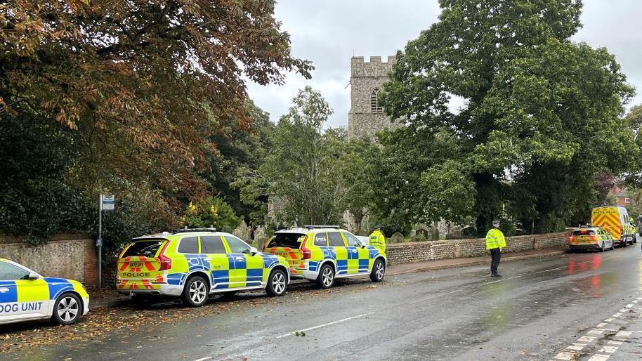
[[[406,42],[437,21],[436,0],[281,0],[276,18],[291,36],[292,53],[312,60],[309,81],[289,74],[284,86],[249,84],[256,105],[277,119],[306,85],[320,91],[334,109],[330,126],[347,126],[350,109],[351,56],[394,55]],[[576,41],[606,46],[617,56],[630,84],[638,89],[632,104],[642,103],[642,1],[584,0]],[[630,107],[630,105],[629,105]]]

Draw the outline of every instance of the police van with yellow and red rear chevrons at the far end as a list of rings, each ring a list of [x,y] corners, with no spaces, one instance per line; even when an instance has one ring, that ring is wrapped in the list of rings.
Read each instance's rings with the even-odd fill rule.
[[[598,206],[591,211],[591,225],[608,232],[620,247],[636,243],[634,227],[629,212],[623,206]]]

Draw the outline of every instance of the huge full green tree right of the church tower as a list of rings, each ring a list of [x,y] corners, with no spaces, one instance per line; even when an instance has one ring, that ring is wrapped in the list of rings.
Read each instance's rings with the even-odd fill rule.
[[[441,141],[433,133],[450,133],[447,147],[454,151],[433,157],[421,172],[424,180],[453,183],[421,197],[443,200],[466,190],[474,206],[446,216],[471,213],[483,232],[508,201],[528,204],[522,214],[529,217],[558,216],[539,202],[555,189],[509,192],[512,180],[532,183],[527,179],[561,167],[570,175],[561,180],[565,185],[580,180],[587,184],[579,189],[592,189],[595,169],[620,174],[630,166],[630,153],[639,150],[620,114],[633,90],[608,51],[570,41],[580,27],[581,1],[442,0],[440,6],[440,20],[398,53],[384,85],[385,110],[406,132],[431,141]],[[450,109],[453,96],[463,99],[457,111]],[[579,197],[554,202],[585,209]]]

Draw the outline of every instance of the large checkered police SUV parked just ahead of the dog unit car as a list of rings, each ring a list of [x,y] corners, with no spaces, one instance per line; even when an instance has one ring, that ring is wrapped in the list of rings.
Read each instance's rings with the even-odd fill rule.
[[[185,229],[133,239],[117,261],[117,291],[136,301],[176,296],[190,307],[209,295],[266,289],[281,296],[289,284],[284,258],[263,254],[230,233]]]

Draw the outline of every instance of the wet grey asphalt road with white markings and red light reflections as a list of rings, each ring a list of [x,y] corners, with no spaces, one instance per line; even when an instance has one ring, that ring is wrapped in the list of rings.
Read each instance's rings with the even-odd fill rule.
[[[501,279],[478,266],[382,284],[351,280],[332,291],[306,285],[263,305],[252,304],[257,294],[241,294],[218,315],[11,358],[640,360],[642,252],[635,246],[502,263]]]

